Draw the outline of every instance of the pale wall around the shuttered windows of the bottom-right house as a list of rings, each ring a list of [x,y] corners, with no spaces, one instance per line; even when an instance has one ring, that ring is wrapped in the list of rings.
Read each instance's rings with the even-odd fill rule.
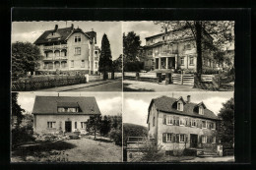
[[[198,146],[206,146],[206,147],[212,147],[214,148],[216,146],[216,143],[201,143],[200,137],[201,136],[208,136],[208,137],[215,137],[216,136],[216,130],[210,130],[207,128],[200,128],[200,127],[186,127],[186,126],[176,126],[176,125],[164,125],[163,124],[163,115],[172,115],[172,114],[166,114],[159,111],[158,114],[158,132],[157,132],[157,143],[159,145],[162,145],[162,148],[165,150],[173,150],[176,148],[184,149],[190,147],[190,134],[198,135]],[[172,116],[178,116],[179,118],[189,118],[188,116],[180,116],[173,114]],[[191,118],[191,117],[190,117]],[[211,120],[206,119],[199,119],[199,118],[191,118],[198,121],[208,121],[208,122],[214,122]],[[151,120],[151,118],[149,119]],[[216,126],[215,126],[216,127]],[[152,131],[153,132],[153,131]],[[149,135],[152,133],[149,131]],[[173,133],[173,134],[185,134],[187,135],[187,142],[162,142],[162,134],[163,133]]]

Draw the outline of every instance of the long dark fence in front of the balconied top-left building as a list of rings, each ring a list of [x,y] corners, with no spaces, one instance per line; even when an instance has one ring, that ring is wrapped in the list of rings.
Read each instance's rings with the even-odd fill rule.
[[[64,85],[77,85],[77,84],[85,84],[85,77],[62,77],[62,78],[54,78],[48,80],[24,80],[24,81],[13,81],[12,82],[12,90],[13,91],[28,91],[28,90],[36,90],[41,88],[48,87],[57,87]]]

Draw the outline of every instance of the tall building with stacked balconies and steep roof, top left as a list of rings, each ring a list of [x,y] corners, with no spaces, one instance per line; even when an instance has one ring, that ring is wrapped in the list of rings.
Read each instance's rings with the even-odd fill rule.
[[[96,31],[84,32],[81,28],[58,28],[45,30],[34,44],[43,58],[37,71],[60,70],[69,73],[94,74],[98,70],[99,49]]]

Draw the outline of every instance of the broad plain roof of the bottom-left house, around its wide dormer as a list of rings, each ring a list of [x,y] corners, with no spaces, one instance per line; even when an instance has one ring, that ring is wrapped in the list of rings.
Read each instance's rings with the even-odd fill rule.
[[[60,113],[58,107],[76,107],[79,106],[82,112]],[[35,96],[32,114],[81,114],[96,115],[100,114],[95,97],[83,96]]]

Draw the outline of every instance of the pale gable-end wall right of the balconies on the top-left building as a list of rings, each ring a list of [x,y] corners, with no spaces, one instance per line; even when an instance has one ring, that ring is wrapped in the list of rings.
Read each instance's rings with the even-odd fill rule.
[[[75,42],[75,36],[81,36],[80,42]],[[73,33],[67,41],[68,44],[68,66],[69,70],[90,70],[90,40],[81,32]],[[81,48],[81,54],[75,54],[75,48]],[[85,61],[85,67],[82,67],[82,60]],[[71,66],[74,61],[74,67]]]

